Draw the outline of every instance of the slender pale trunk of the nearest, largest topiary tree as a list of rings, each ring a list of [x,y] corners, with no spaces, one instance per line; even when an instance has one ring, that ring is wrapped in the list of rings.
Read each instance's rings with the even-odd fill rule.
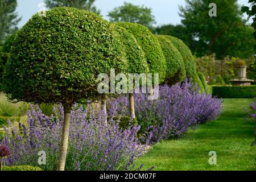
[[[59,156],[59,163],[57,165],[57,171],[64,171],[66,156],[68,151],[68,136],[69,136],[69,127],[70,127],[70,117],[71,117],[71,109],[69,107],[64,106],[64,122],[62,129],[62,137],[61,137],[61,151]]]

